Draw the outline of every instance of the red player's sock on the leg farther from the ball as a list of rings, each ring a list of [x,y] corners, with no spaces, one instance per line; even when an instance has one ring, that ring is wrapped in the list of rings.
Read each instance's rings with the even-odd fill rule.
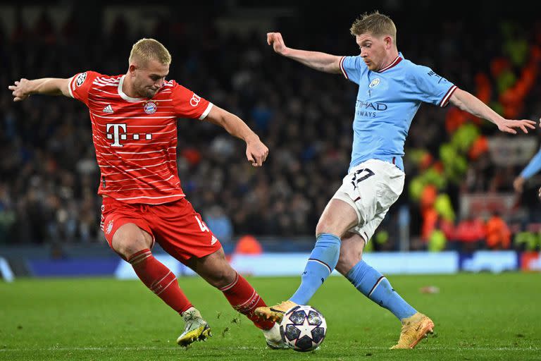
[[[175,274],[154,258],[148,248],[132,255],[128,262],[139,279],[173,310],[182,314],[192,307],[178,286]]]

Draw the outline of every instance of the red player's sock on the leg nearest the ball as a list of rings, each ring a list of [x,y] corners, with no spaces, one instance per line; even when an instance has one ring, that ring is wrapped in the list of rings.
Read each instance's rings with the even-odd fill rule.
[[[261,319],[254,314],[254,310],[257,307],[263,307],[266,304],[250,283],[244,277],[240,276],[240,274],[237,274],[235,281],[232,281],[228,286],[220,288],[220,290],[232,307],[238,312],[245,314],[259,329],[268,330],[274,326],[273,321]]]

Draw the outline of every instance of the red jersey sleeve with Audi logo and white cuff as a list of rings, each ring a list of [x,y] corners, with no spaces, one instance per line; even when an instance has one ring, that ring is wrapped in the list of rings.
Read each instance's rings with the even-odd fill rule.
[[[173,107],[180,118],[203,120],[213,104],[173,80]]]

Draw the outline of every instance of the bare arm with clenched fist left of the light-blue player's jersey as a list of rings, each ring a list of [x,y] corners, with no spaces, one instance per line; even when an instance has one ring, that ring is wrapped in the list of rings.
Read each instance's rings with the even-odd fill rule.
[[[341,73],[340,59],[342,56],[330,55],[319,51],[292,49],[285,46],[280,32],[267,32],[267,44],[272,45],[275,52],[287,58],[299,61],[316,71],[325,73]]]

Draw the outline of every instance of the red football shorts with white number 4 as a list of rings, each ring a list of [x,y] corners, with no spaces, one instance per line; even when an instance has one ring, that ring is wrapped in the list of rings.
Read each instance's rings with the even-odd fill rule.
[[[113,235],[128,223],[149,233],[163,250],[180,262],[211,255],[222,247],[185,197],[164,204],[128,204],[105,197],[101,206],[101,230],[111,248]]]

